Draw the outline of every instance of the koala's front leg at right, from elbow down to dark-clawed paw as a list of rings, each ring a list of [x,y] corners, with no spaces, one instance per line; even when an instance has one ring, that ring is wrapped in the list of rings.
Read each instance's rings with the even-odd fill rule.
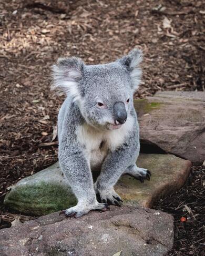
[[[121,206],[122,200],[115,192],[114,185],[130,165],[130,162],[134,161],[133,152],[135,152],[135,148],[128,144],[122,145],[114,152],[109,152],[94,185],[95,192],[99,193],[101,202]]]

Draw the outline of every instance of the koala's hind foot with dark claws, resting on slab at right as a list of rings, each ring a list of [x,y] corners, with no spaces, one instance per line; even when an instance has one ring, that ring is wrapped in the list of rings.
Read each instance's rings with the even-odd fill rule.
[[[136,165],[130,165],[124,172],[124,174],[128,174],[142,183],[144,180],[150,180],[151,172],[147,169],[139,168]]]

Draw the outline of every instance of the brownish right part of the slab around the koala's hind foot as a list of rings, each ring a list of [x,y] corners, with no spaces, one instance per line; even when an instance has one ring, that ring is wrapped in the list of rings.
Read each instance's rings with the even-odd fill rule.
[[[119,179],[116,191],[126,204],[150,208],[157,199],[180,189],[191,169],[189,160],[160,154],[141,154],[137,165],[151,171],[151,180],[141,183],[125,175]]]

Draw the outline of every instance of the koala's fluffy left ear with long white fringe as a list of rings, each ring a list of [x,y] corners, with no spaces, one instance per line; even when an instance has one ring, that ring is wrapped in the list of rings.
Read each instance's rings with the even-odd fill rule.
[[[73,100],[80,99],[79,80],[83,76],[84,62],[77,57],[59,58],[53,65],[52,90],[63,91]]]

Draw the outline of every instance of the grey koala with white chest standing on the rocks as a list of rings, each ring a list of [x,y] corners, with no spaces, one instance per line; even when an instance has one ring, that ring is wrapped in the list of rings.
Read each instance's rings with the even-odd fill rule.
[[[52,89],[67,95],[58,114],[59,165],[78,201],[61,212],[67,217],[121,206],[114,185],[125,173],[141,182],[150,179],[149,170],[136,166],[140,144],[133,95],[141,60],[134,49],[108,64],[85,65],[69,57],[53,66]],[[91,170],[100,170],[95,184]]]

